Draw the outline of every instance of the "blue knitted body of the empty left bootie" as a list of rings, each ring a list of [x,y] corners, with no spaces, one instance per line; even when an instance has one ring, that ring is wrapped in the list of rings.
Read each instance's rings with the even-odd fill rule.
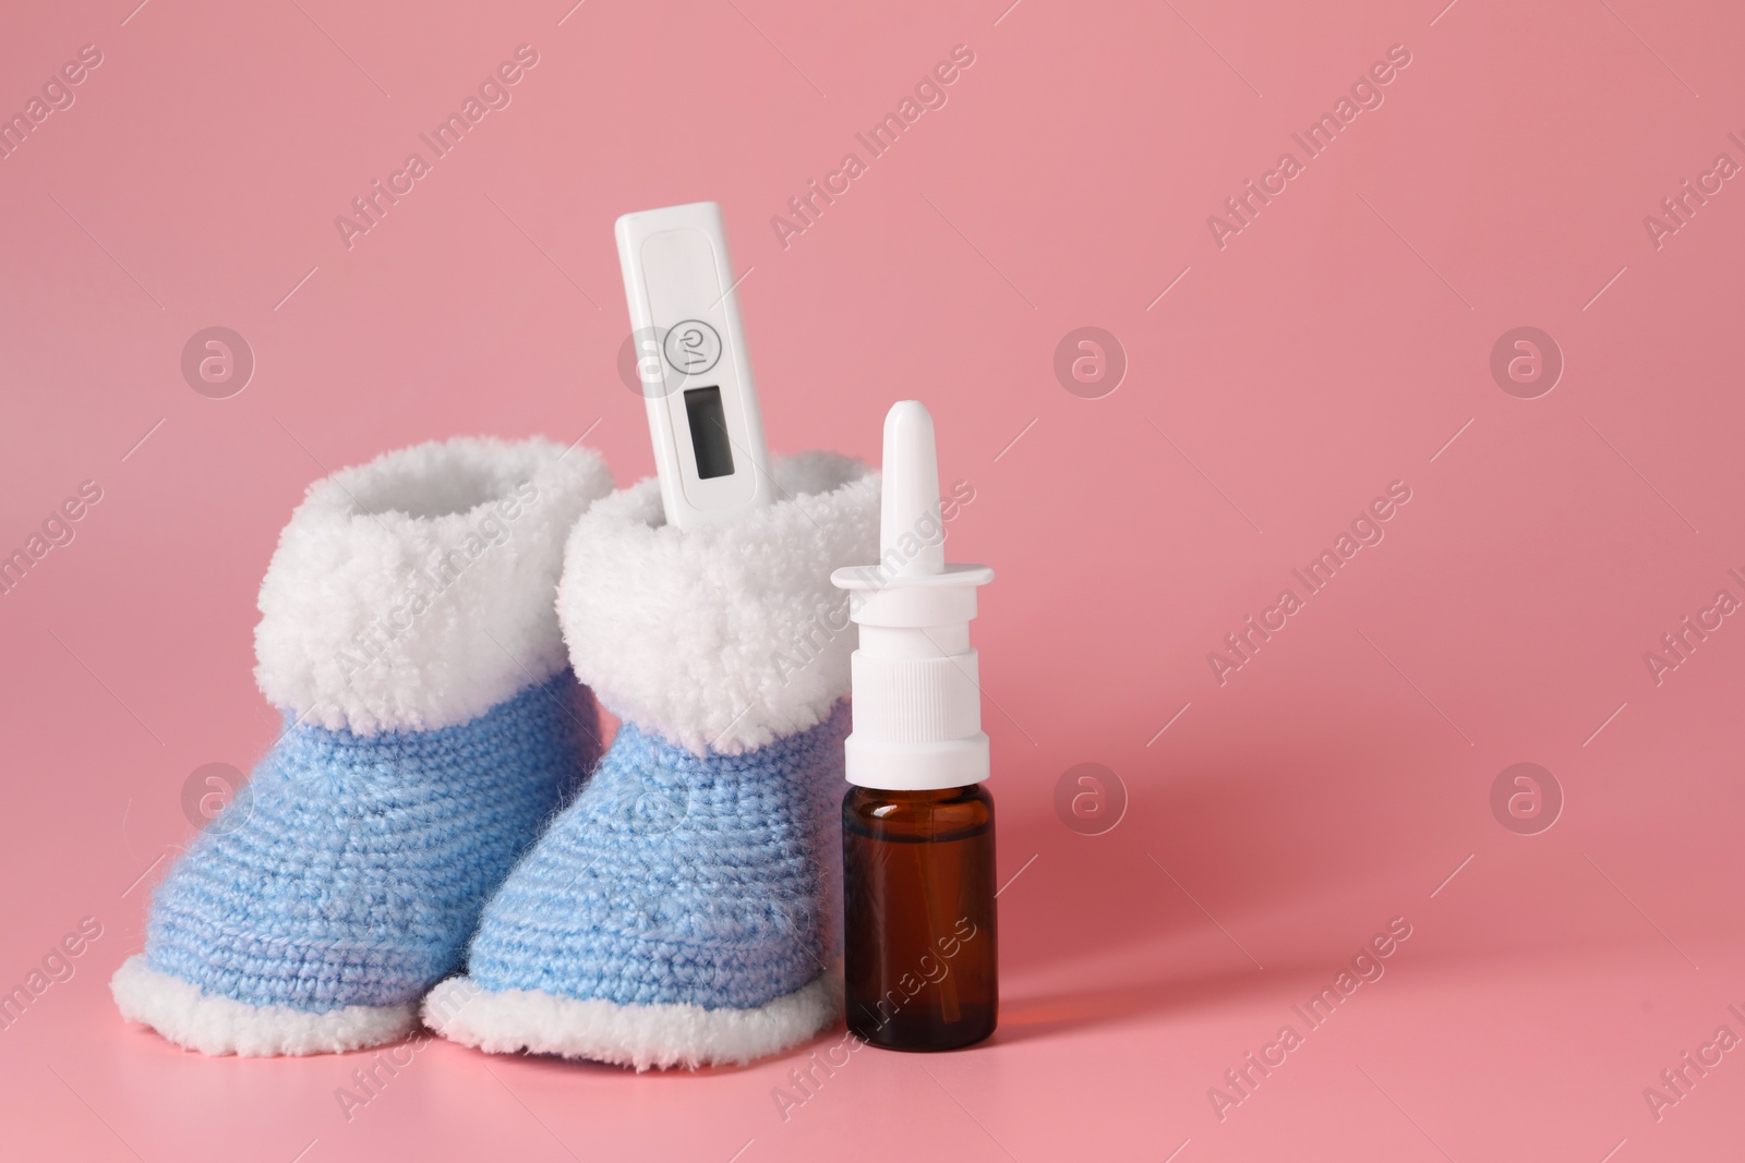
[[[440,731],[290,727],[250,800],[154,894],[147,962],[251,1006],[417,999],[459,968],[485,900],[585,778],[593,736],[569,670]]]

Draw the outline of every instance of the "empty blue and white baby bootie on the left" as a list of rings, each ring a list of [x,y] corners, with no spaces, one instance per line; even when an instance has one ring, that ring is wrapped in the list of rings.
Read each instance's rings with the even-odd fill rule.
[[[599,755],[553,596],[609,490],[546,439],[417,445],[309,488],[255,629],[284,732],[154,893],[112,982],[124,1017],[239,1055],[415,1025]]]

